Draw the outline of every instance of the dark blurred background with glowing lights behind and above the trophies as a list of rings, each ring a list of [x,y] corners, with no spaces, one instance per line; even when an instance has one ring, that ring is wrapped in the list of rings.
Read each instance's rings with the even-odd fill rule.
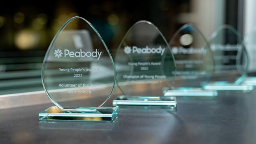
[[[139,20],[154,23],[169,41],[186,23],[210,39],[222,24],[242,36],[256,25],[254,0],[93,0],[0,2],[0,94],[43,90],[41,65],[64,22],[81,16],[91,22],[112,56],[127,30]]]

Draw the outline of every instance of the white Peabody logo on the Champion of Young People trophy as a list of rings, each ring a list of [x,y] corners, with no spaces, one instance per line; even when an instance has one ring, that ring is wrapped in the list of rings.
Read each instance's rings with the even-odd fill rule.
[[[164,54],[164,50],[165,48],[162,48],[161,46],[158,48],[149,48],[148,46],[146,46],[146,48],[138,48],[137,46],[132,46],[132,48],[130,46],[124,47],[124,53],[126,54],[161,54],[162,56]]]

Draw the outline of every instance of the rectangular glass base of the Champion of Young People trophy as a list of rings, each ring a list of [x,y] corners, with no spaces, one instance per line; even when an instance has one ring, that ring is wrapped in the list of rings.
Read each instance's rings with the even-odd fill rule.
[[[118,96],[113,100],[113,106],[170,106],[176,108],[174,96]]]

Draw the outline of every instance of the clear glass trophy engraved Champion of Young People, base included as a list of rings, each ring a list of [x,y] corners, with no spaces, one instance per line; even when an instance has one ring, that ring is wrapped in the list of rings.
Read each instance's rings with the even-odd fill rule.
[[[174,58],[154,24],[142,20],[128,30],[116,52],[115,64],[122,95],[113,106],[176,107],[175,97],[162,94],[162,89],[171,88],[174,82]]]

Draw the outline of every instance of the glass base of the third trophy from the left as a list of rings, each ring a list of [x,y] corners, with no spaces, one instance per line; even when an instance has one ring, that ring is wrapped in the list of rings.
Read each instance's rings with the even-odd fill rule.
[[[218,96],[216,90],[167,90],[164,96]]]

